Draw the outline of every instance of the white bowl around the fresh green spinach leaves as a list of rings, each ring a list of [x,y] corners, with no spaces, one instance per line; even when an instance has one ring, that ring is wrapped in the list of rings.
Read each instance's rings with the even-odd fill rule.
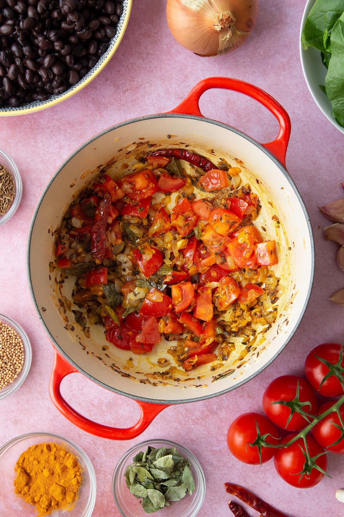
[[[333,126],[335,126],[337,129],[339,129],[341,133],[344,134],[344,128],[340,126],[331,115],[332,104],[330,100],[327,98],[326,94],[319,88],[319,84],[325,84],[325,77],[327,73],[326,67],[323,65],[321,60],[320,50],[317,50],[314,47],[308,47],[307,50],[304,50],[301,44],[301,34],[303,31],[303,27],[305,25],[310,9],[312,9],[314,4],[315,0],[307,0],[301,21],[299,44],[302,71],[309,92],[312,94],[312,97],[318,105],[318,108],[322,111],[325,117],[330,120],[331,124],[333,124]]]

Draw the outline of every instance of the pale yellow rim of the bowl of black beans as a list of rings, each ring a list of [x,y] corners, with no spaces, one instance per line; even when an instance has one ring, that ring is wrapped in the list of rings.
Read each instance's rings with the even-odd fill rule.
[[[122,38],[124,36],[125,30],[128,25],[130,11],[132,10],[132,5],[133,5],[133,0],[127,0],[127,9],[124,13],[123,24],[122,24],[120,31],[118,33],[116,33],[116,35],[114,36],[114,38],[116,38],[116,39],[114,40],[114,44],[113,44],[111,51],[109,52],[109,55],[107,56],[106,59],[104,59],[104,61],[99,66],[95,66],[93,72],[89,75],[89,77],[87,78],[86,81],[83,81],[83,79],[81,79],[77,83],[77,86],[74,89],[69,88],[65,93],[61,94],[56,99],[46,102],[45,104],[38,104],[37,106],[32,107],[32,108],[18,107],[18,109],[15,109],[13,111],[2,111],[0,108],[0,117],[25,115],[27,113],[35,113],[37,111],[45,110],[46,108],[50,108],[50,107],[54,106],[55,104],[58,104],[59,102],[62,102],[63,100],[68,99],[69,97],[72,97],[72,95],[80,92],[81,89],[83,89],[91,81],[93,81],[93,79],[96,77],[96,75],[98,75],[103,70],[103,68],[109,63],[111,57],[118,49],[119,44],[122,41]],[[24,106],[25,106],[25,104],[24,104]]]

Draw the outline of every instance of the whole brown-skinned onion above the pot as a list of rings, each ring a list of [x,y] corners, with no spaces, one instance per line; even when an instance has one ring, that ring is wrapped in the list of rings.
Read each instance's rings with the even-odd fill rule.
[[[167,0],[169,29],[199,56],[227,54],[240,47],[258,16],[257,0]]]

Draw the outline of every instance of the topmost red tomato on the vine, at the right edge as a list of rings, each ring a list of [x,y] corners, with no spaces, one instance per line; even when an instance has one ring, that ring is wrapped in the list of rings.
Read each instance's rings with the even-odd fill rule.
[[[338,343],[323,343],[313,348],[312,352],[306,357],[305,374],[307,381],[318,393],[325,397],[341,397],[344,394],[344,358],[342,357],[341,361],[339,360],[340,353],[342,353],[342,345]],[[320,359],[317,359],[316,356]],[[330,372],[330,368],[322,361],[333,365],[331,370],[342,378],[341,383],[332,374],[321,385],[324,377]]]

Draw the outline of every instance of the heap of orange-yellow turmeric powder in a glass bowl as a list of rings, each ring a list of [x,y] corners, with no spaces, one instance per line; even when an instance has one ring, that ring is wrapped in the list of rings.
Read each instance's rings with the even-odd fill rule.
[[[14,471],[15,493],[36,505],[38,515],[72,509],[79,495],[81,467],[75,456],[53,443],[32,445],[20,455]]]

